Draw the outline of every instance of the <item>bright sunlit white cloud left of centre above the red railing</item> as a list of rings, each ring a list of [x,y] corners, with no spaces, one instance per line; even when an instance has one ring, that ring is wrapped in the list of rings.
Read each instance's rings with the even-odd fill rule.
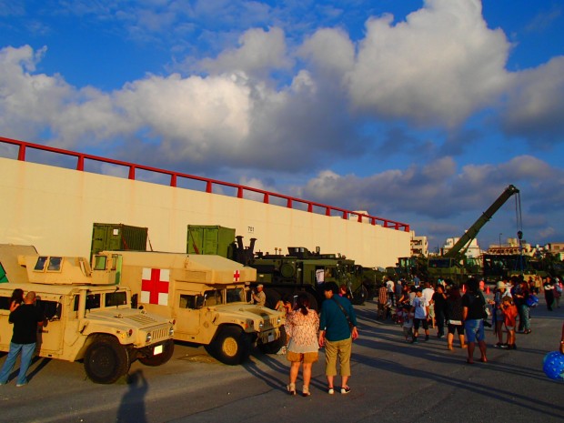
[[[249,131],[249,92],[229,76],[147,76],[114,94],[137,128],[163,140],[168,159],[199,161],[243,143]]]

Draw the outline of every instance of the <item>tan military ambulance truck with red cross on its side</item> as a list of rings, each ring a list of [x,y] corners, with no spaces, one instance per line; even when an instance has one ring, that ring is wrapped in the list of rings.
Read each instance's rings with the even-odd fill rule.
[[[213,255],[102,251],[93,258],[94,272],[114,261],[116,282],[131,288],[134,307],[174,319],[175,339],[203,345],[225,364],[246,360],[255,343],[267,353],[286,343],[284,315],[247,304],[254,268]]]

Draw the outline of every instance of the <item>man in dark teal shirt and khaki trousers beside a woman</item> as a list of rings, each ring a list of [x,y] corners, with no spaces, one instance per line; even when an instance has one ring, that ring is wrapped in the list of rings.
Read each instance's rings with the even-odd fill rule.
[[[350,355],[352,341],[358,337],[357,316],[346,297],[337,296],[335,282],[326,282],[323,287],[325,301],[321,305],[319,321],[319,347],[325,347],[325,374],[327,393],[334,394],[333,379],[337,375],[337,358],[340,363],[341,394],[348,394],[350,377]]]

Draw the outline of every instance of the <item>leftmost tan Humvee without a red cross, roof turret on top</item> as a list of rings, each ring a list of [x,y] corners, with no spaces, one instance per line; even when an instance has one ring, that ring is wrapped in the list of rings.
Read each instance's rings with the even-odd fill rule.
[[[106,277],[96,277],[86,258],[17,257],[28,280],[0,284],[0,350],[10,348],[9,300],[20,288],[35,291],[36,307],[45,315],[37,334],[39,357],[83,360],[86,376],[102,384],[126,375],[136,359],[146,366],[166,363],[174,351],[172,322],[132,308],[131,291],[107,283],[116,276],[112,258]]]

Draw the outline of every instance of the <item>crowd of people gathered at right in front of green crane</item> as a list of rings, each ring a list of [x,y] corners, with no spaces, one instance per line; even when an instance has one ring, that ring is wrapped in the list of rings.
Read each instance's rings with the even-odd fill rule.
[[[384,287],[386,298],[381,295]],[[426,340],[428,327],[437,328],[438,338],[445,336],[447,327],[448,349],[453,349],[456,332],[460,347],[468,347],[468,363],[473,363],[476,345],[480,360],[487,361],[484,325],[493,327],[497,339],[494,347],[517,349],[516,333],[532,332],[529,314],[537,306],[540,292],[544,293],[547,309],[552,311],[559,307],[562,281],[559,277],[511,277],[500,280],[488,300],[484,289],[483,281],[472,278],[462,287],[440,279],[434,287],[428,282],[418,281],[416,285],[399,280],[390,284],[390,280],[385,280],[378,290],[377,318],[391,316],[402,325],[404,337],[412,343],[418,342],[419,327],[423,327]]]

